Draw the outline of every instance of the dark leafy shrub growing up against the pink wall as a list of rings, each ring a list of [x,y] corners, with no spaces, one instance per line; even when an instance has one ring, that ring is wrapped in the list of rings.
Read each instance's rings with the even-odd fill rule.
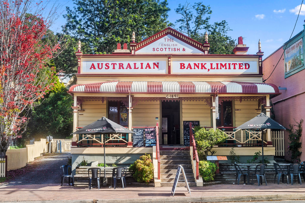
[[[296,120],[294,120],[296,121]],[[289,124],[289,146],[288,146],[288,154],[291,153],[291,160],[294,163],[300,163],[300,155],[302,152],[299,150],[302,146],[302,142],[300,142],[300,138],[302,136],[302,124],[303,119],[300,120],[300,122],[296,122],[296,124]],[[293,129],[293,127],[296,126],[296,129]]]

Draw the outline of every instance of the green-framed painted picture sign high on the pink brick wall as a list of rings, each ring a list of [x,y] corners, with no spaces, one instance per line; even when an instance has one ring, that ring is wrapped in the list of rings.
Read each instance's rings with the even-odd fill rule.
[[[303,37],[285,49],[285,73],[303,66]]]

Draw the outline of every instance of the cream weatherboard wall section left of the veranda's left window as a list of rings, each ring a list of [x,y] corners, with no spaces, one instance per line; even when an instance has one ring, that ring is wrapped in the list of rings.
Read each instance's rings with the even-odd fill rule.
[[[83,101],[81,109],[84,112],[78,113],[78,126],[85,127],[88,124],[100,119],[103,116],[107,116],[106,101]]]

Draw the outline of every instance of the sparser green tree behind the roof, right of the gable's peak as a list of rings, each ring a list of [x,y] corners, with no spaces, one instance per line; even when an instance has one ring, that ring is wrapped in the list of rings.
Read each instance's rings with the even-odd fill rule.
[[[225,20],[210,24],[212,11],[209,5],[206,6],[203,2],[193,5],[179,4],[175,11],[181,15],[181,18],[176,20],[180,32],[200,43],[204,43],[205,31],[209,34],[209,54],[233,54],[235,40],[228,36],[228,31],[231,29]]]

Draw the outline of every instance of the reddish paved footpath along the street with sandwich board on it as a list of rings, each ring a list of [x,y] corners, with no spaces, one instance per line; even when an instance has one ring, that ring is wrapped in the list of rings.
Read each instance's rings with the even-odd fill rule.
[[[191,187],[190,196],[185,187],[177,187],[171,196],[171,187],[126,187],[100,190],[72,187],[65,184],[13,185],[0,188],[1,202],[226,202],[304,199],[305,185],[268,184],[235,185],[218,184],[205,187]],[[50,201],[45,201],[50,200]],[[95,201],[98,200],[98,201]]]

